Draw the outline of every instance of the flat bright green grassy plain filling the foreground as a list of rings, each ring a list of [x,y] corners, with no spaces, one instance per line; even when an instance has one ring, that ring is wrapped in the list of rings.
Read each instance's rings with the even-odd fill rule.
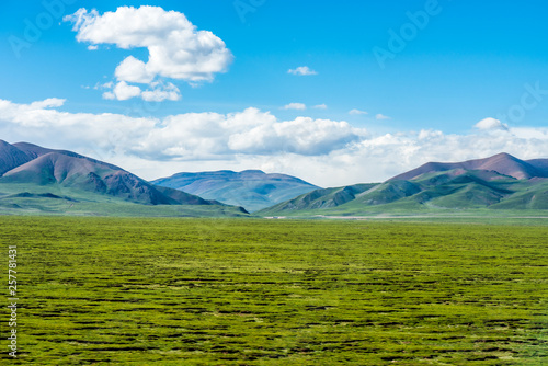
[[[0,217],[4,365],[546,365],[546,226]],[[4,304],[8,286],[4,289]]]

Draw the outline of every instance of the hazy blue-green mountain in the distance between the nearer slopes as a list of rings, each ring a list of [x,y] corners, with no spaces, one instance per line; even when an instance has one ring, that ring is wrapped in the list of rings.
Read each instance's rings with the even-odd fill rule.
[[[255,211],[318,188],[295,176],[266,174],[260,170],[179,173],[151,183],[207,199],[216,199],[227,205],[243,206],[249,211]]]

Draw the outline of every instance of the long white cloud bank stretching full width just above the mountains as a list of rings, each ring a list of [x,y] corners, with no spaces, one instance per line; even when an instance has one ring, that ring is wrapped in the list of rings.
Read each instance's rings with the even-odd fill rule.
[[[181,171],[262,169],[322,186],[378,182],[429,161],[461,161],[502,151],[548,158],[548,128],[439,130],[372,135],[346,122],[270,112],[186,113],[158,118],[59,111],[48,99],[31,104],[0,100],[0,136],[73,150],[145,179]]]

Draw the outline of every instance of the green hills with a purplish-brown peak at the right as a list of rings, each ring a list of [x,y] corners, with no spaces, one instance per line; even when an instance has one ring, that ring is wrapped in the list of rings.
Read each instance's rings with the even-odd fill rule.
[[[463,209],[548,209],[548,159],[507,153],[457,163],[426,163],[384,183],[317,190],[258,213],[365,215]]]

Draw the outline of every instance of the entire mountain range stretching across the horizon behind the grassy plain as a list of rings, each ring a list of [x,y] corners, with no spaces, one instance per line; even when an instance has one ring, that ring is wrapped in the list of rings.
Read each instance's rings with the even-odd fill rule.
[[[0,140],[0,214],[218,217],[249,216],[249,210],[310,217],[486,209],[547,210],[548,159],[499,153],[429,162],[383,183],[320,188],[258,170],[179,173],[147,182],[72,151]]]

